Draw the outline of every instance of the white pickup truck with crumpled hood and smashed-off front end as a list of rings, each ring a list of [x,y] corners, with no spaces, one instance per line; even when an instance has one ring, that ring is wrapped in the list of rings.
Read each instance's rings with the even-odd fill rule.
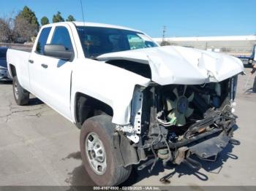
[[[10,49],[7,63],[18,105],[32,93],[80,128],[83,164],[98,185],[121,184],[139,163],[200,168],[192,155],[214,161],[235,142],[238,58],[74,22],[43,26],[32,51]]]

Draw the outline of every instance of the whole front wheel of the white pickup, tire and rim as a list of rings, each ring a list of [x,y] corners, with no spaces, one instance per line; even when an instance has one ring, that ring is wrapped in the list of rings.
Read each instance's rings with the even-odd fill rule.
[[[117,165],[113,147],[112,117],[99,115],[83,123],[80,131],[80,151],[87,173],[99,186],[114,186],[128,179],[132,166]]]

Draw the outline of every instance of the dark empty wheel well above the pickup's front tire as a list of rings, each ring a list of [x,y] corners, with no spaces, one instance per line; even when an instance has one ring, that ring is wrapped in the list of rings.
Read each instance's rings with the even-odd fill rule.
[[[89,95],[83,93],[75,94],[75,122],[78,128],[81,128],[83,122],[89,117],[99,114],[108,114],[113,117],[113,109],[108,104]]]

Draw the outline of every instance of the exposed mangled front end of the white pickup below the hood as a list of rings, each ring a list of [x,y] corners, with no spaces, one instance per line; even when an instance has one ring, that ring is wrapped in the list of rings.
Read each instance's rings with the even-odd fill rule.
[[[140,170],[151,164],[153,168],[157,160],[200,168],[200,163],[189,157],[192,154],[203,160],[216,160],[233,136],[236,80],[237,76],[204,85],[152,83],[145,88],[136,87],[133,125],[116,127],[118,139],[126,136],[130,140],[121,141],[121,152],[127,148],[122,146],[125,142],[134,155],[123,165],[139,163],[152,154],[154,157],[140,165]]]

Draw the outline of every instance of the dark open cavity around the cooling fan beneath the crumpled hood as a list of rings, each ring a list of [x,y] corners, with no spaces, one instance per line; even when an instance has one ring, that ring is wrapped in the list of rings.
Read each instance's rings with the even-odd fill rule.
[[[157,122],[181,136],[190,125],[219,109],[227,98],[227,82],[206,85],[153,87],[157,93]],[[222,91],[223,89],[223,91]],[[151,91],[151,90],[149,90]],[[162,110],[161,110],[162,109]]]

